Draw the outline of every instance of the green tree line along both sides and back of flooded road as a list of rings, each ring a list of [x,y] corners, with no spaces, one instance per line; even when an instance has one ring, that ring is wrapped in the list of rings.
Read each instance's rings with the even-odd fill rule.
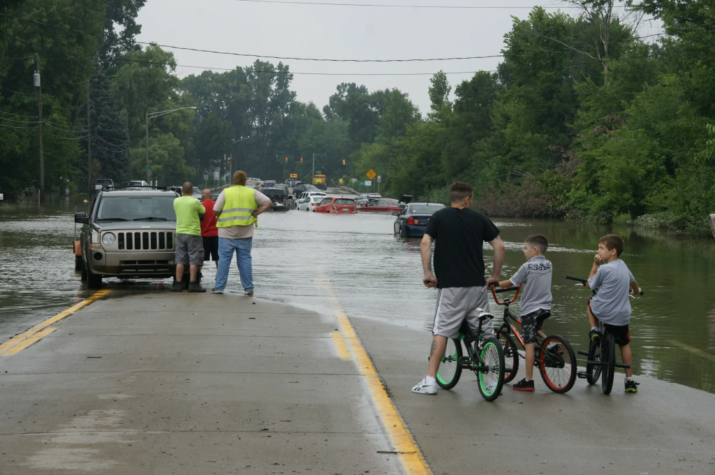
[[[395,196],[445,201],[450,182],[470,182],[490,215],[704,233],[715,211],[715,9],[706,1],[573,1],[572,15],[535,7],[513,17],[497,70],[454,88],[435,74],[425,114],[397,88],[353,82],[322,109],[300,102],[282,63],[179,79],[171,52],[136,41],[144,1],[5,2],[6,196],[39,185],[41,126],[48,192],[142,179],[147,165],[165,185],[210,185],[205,175],[239,168],[309,180],[315,155],[334,182],[378,170]],[[664,34],[641,36],[646,20]]]

